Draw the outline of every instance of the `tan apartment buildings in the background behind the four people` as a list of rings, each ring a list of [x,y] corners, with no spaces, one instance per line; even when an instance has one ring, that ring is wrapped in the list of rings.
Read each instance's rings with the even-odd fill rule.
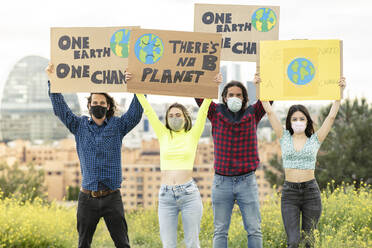
[[[211,138],[201,139],[197,148],[193,178],[198,184],[203,202],[211,200],[213,181],[214,145]],[[262,141],[258,145],[260,166],[256,170],[259,199],[273,192],[265,178],[263,167],[271,168],[269,160],[280,153],[279,142]],[[157,139],[142,140],[141,146],[131,148],[123,145],[121,149],[122,184],[121,194],[126,209],[138,207],[151,208],[156,205],[161,185],[160,151]],[[72,138],[59,140],[52,145],[32,144],[17,140],[7,144],[0,142],[0,164],[17,164],[22,170],[33,164],[43,170],[48,200],[62,201],[69,197],[69,188],[80,188],[82,179],[80,161]],[[1,173],[0,173],[1,175]]]

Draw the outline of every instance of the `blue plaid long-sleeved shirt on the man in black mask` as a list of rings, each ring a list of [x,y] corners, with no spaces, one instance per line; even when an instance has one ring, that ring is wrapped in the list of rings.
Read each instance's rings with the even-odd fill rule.
[[[139,123],[143,112],[137,97],[133,97],[124,115],[106,119],[101,126],[87,116],[79,117],[72,113],[62,94],[50,93],[50,87],[49,97],[54,114],[75,136],[82,187],[94,191],[120,188],[122,139]]]

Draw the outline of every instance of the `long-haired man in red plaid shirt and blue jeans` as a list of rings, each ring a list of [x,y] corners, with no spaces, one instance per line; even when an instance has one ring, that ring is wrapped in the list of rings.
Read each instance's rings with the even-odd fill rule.
[[[259,82],[258,74],[255,82]],[[247,231],[248,247],[261,248],[261,215],[254,172],[260,163],[257,125],[265,110],[260,100],[247,106],[247,89],[238,81],[225,86],[222,99],[222,104],[212,102],[208,112],[214,142],[213,247],[227,247],[231,214],[236,202]],[[195,100],[199,106],[203,102],[202,99]]]

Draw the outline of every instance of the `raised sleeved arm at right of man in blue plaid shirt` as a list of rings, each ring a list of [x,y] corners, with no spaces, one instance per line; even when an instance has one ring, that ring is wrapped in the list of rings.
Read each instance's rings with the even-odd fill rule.
[[[128,111],[120,117],[120,132],[125,136],[141,121],[143,108],[136,95],[133,96]]]

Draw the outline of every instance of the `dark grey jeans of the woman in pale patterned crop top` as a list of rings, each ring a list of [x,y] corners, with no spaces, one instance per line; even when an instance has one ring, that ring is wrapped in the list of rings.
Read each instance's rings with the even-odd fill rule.
[[[281,200],[282,218],[287,233],[287,247],[297,248],[301,239],[305,247],[311,247],[312,231],[322,213],[320,190],[315,179],[302,183],[285,181]],[[300,233],[300,218],[302,214],[302,237]]]

